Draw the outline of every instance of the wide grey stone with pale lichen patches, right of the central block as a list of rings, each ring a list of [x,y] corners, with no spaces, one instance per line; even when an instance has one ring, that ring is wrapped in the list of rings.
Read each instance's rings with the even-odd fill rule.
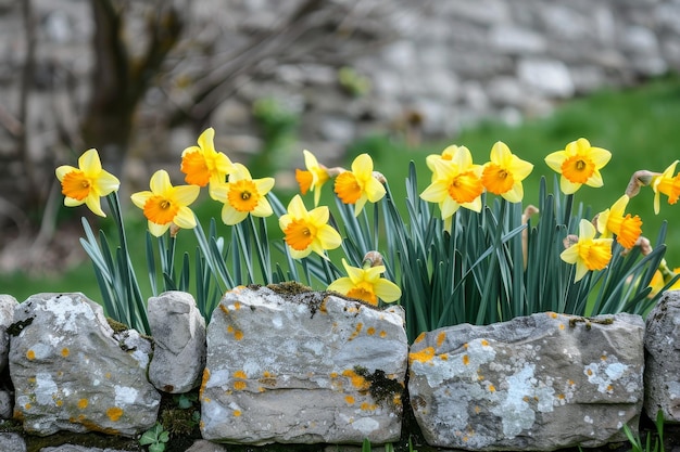
[[[610,323],[609,323],[610,322]],[[597,447],[637,431],[644,323],[538,313],[424,333],[411,405],[427,442],[465,450]]]

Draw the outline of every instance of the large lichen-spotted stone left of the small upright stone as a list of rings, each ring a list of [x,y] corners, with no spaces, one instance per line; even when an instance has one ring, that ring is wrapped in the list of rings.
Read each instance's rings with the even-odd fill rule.
[[[24,430],[131,437],[153,426],[161,397],[141,364],[148,358],[113,337],[101,306],[83,294],[37,294],[14,322],[10,376]]]

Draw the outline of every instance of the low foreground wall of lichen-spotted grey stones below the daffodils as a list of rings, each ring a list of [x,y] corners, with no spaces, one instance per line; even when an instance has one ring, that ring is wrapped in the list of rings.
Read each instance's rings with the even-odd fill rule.
[[[181,418],[207,441],[173,451],[404,447],[411,434],[468,451],[606,447],[626,441],[625,426],[638,435],[643,410],[680,422],[679,312],[676,290],[646,324],[627,313],[542,312],[424,332],[408,345],[401,307],[294,283],[229,290],[207,327],[190,295],[162,294],[149,302],[153,337],[108,322],[83,294],[22,304],[2,295],[0,417],[24,435],[104,434],[127,444],[117,450],[138,450],[126,438],[156,419],[178,441],[192,431],[179,430]],[[172,396],[186,396],[185,405],[168,404]],[[25,450],[21,432],[0,432],[0,450],[8,444]]]

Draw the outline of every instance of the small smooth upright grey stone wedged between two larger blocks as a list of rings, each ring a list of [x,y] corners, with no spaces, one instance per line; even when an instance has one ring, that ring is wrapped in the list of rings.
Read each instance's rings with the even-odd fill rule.
[[[184,292],[166,292],[149,299],[148,311],[155,341],[149,379],[171,393],[198,387],[205,365],[205,320],[196,300]]]

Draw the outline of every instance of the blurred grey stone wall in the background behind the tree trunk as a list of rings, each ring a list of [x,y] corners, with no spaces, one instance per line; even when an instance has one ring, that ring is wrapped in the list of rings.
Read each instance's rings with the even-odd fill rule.
[[[153,1],[121,3],[134,54],[146,44],[144,8]],[[274,35],[302,1],[177,3],[184,38],[138,109],[133,179],[147,181],[165,162],[177,162],[207,126],[235,159],[255,154],[263,143],[252,105],[262,98],[300,115],[297,148],[332,163],[367,133],[452,135],[480,118],[518,121],[564,99],[680,67],[678,0],[335,0],[310,2],[326,15],[315,12],[308,29]],[[78,127],[98,89],[90,80],[90,3],[33,0],[35,72],[22,121],[23,4],[0,0],[0,197],[20,207],[13,193],[22,184],[49,180],[55,164],[91,146],[79,141]],[[249,50],[256,61],[248,60]],[[342,67],[351,68],[349,83],[340,81]],[[206,68],[224,72],[224,89],[214,94],[224,99],[216,98],[207,119],[192,120],[187,93]],[[169,120],[173,108],[185,108],[186,120]],[[22,128],[26,153],[17,155]],[[300,163],[298,154],[291,165]]]

